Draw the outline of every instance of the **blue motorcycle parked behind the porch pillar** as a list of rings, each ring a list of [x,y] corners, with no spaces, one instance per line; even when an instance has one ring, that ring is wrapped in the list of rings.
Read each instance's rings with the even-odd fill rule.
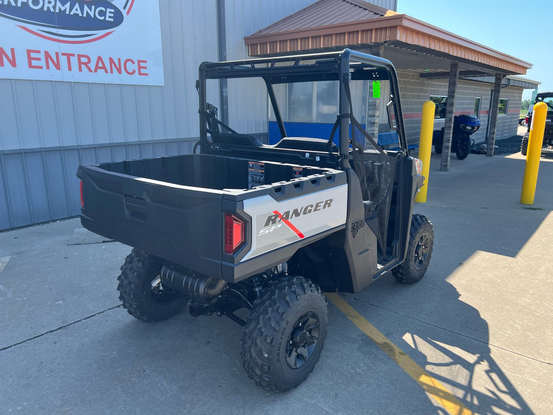
[[[473,115],[456,115],[453,117],[453,137],[451,139],[451,151],[455,152],[460,160],[466,159],[471,152],[474,140],[470,136],[480,128],[480,120]],[[442,153],[444,146],[444,127],[432,133],[432,146],[436,153]]]

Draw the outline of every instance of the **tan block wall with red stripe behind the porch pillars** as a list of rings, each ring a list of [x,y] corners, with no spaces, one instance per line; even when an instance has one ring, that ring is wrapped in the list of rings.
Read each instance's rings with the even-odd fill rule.
[[[418,144],[420,134],[420,117],[422,104],[429,100],[430,95],[447,95],[447,79],[422,79],[419,74],[398,71],[401,106],[405,122],[405,132],[409,144]],[[471,137],[476,142],[486,140],[488,113],[493,84],[484,82],[459,80],[455,113],[472,114],[475,98],[481,98],[479,120],[481,127]],[[514,136],[517,133],[520,102],[523,89],[517,87],[504,88],[501,98],[509,98],[507,115],[498,116],[496,139]],[[434,121],[434,129],[444,127],[443,119]]]

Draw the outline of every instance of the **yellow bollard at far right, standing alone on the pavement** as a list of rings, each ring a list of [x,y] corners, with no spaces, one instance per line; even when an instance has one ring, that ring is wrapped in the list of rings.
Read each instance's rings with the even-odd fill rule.
[[[547,116],[547,104],[538,102],[534,105],[532,123],[530,124],[530,137],[528,138],[528,151],[526,152],[526,164],[524,166],[524,179],[520,192],[520,203],[531,205],[536,194],[536,182],[538,181],[538,169],[540,167],[541,147],[544,143],[545,118]]]

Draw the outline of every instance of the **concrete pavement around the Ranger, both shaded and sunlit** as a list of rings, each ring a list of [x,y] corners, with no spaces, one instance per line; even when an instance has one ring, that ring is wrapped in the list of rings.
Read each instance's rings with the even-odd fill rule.
[[[529,210],[520,155],[453,157],[447,173],[436,156],[415,207],[435,229],[426,276],[404,286],[385,275],[343,298],[472,413],[549,414],[553,162]],[[238,325],[133,319],[116,291],[131,248],[66,245],[80,227],[0,233],[0,413],[447,413],[332,303],[315,371],[292,391],[260,390]]]

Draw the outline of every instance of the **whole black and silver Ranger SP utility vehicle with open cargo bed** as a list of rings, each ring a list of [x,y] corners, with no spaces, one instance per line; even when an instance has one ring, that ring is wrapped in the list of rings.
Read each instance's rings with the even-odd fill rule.
[[[206,80],[223,78],[264,82],[278,143],[263,144],[217,119]],[[379,146],[354,117],[352,95],[361,92],[350,85],[375,79],[389,86],[385,101],[373,103],[388,112],[395,151]],[[298,82],[336,86],[330,137],[286,135],[277,98]],[[285,391],[319,360],[328,324],[324,291],[357,293],[390,271],[413,283],[430,262],[432,225],[412,214],[424,177],[420,160],[409,157],[397,75],[388,60],[345,49],[206,62],[196,86],[199,153],[80,166],[82,225],[134,247],[118,277],[131,315],[160,321],[186,304],[194,317],[226,315],[243,326],[248,376]],[[363,100],[366,110],[368,92]]]

